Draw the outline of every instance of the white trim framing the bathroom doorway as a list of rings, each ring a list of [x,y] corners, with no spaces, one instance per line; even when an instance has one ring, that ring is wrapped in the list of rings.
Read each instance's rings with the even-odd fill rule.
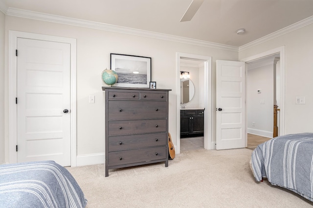
[[[180,153],[180,58],[190,58],[196,60],[202,60],[204,63],[204,149],[212,150],[215,147],[212,145],[212,57],[187,54],[187,53],[176,53],[176,77],[177,77],[177,140],[176,140],[176,152]]]

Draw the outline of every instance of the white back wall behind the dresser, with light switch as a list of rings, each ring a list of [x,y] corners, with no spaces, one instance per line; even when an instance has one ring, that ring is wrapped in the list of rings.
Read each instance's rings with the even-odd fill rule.
[[[179,89],[176,89],[178,85],[176,53],[211,56],[212,77],[216,76],[217,59],[238,60],[238,52],[228,50],[12,16],[6,18],[6,36],[9,30],[77,39],[78,156],[92,156],[105,152],[105,98],[101,90],[104,84],[100,76],[105,68],[110,67],[110,53],[152,57],[152,80],[157,82],[157,88],[172,89],[169,93],[169,132],[175,145],[176,138],[179,138],[179,135],[176,135],[176,121],[179,116],[176,114],[179,93]],[[8,73],[7,67],[5,73]],[[215,109],[215,79],[212,80],[212,90],[212,108]],[[89,95],[95,95],[94,104],[89,103]],[[5,102],[8,104],[7,99]],[[214,114],[213,119],[215,119]],[[5,122],[8,120],[6,119]],[[8,131],[8,128],[5,131]],[[212,131],[212,134],[215,140],[215,131]],[[8,137],[5,139],[8,141]],[[5,160],[8,161],[8,150],[6,150]]]

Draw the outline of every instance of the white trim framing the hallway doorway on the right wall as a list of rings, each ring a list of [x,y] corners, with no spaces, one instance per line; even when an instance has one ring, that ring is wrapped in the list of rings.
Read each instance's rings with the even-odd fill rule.
[[[285,46],[281,46],[278,48],[271,49],[269,51],[265,51],[263,53],[246,57],[241,59],[240,61],[249,62],[253,60],[257,60],[260,58],[268,57],[270,55],[279,54],[280,56],[280,121],[279,121],[279,135],[285,135]],[[247,75],[247,67],[246,67],[246,75]],[[247,76],[246,76],[247,79]],[[247,81],[246,81],[247,83]],[[247,119],[247,108],[246,108],[246,119]],[[247,130],[247,124],[246,124]],[[247,131],[246,131],[247,132]],[[247,135],[247,134],[246,134]],[[246,137],[247,140],[247,137]]]

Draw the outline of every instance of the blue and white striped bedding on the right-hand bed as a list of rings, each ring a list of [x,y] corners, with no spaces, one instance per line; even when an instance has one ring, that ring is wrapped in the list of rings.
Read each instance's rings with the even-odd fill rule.
[[[313,201],[313,133],[278,136],[260,144],[251,155],[257,181],[266,177]]]

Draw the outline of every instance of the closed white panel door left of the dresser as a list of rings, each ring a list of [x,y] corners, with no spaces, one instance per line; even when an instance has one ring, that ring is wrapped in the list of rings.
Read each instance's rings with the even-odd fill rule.
[[[70,44],[18,38],[17,97],[18,162],[70,166]]]

